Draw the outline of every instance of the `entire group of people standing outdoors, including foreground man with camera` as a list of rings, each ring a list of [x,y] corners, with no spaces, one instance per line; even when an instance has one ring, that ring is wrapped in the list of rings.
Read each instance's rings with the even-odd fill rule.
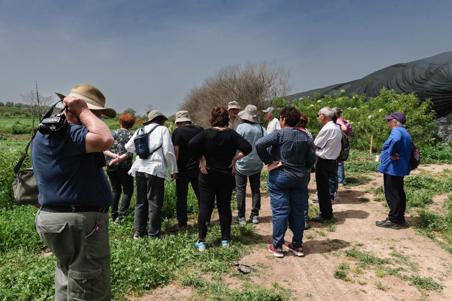
[[[161,233],[164,181],[176,180],[178,228],[187,228],[187,193],[191,183],[199,205],[195,246],[200,251],[206,249],[205,238],[216,200],[220,244],[228,247],[232,221],[247,222],[247,181],[252,190],[249,220],[260,221],[259,184],[263,163],[269,170],[267,185],[273,221],[273,243],[268,250],[274,256],[284,256],[283,245],[297,256],[304,255],[307,185],[314,163],[320,212],[311,220],[332,219],[330,180],[336,174],[341,132],[347,129],[340,122],[340,126],[335,124],[337,112],[328,107],[318,112],[317,119],[323,127],[314,140],[306,129],[306,114],[292,106],[279,112],[279,120],[274,118],[273,108],[264,110],[269,121],[267,130],[259,124],[255,106],[248,105],[241,112],[235,101],[228,104],[228,110],[214,107],[208,119],[210,128],[205,130],[193,124],[187,111],[179,111],[172,136],[163,126],[168,118],[153,110],[143,123],[151,154],[148,158],[137,156],[132,163],[138,132],[130,132],[135,123],[132,115],[122,114],[121,128],[111,132],[100,119],[102,115],[113,118],[116,111],[105,107],[105,97],[97,88],[80,84],[67,96],[57,95],[64,104],[63,115],[67,121],[62,135],[38,132],[31,148],[39,188],[40,208],[35,224],[57,259],[55,299],[111,298],[108,209],[111,206],[111,218],[121,225],[133,194],[133,177],[136,184],[134,239],[164,237]],[[403,113],[395,112],[385,119],[392,131],[383,145],[378,170],[384,173],[390,212],[387,219],[376,224],[398,228],[405,224],[403,177],[410,171],[411,137],[404,129]],[[235,187],[238,215],[233,219],[231,197]],[[293,237],[285,244],[288,226]]]

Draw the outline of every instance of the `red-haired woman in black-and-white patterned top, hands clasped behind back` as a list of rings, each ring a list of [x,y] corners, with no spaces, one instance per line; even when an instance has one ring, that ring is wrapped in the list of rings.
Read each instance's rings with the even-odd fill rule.
[[[115,144],[103,154],[106,156],[107,176],[110,179],[113,203],[111,204],[111,218],[115,224],[121,224],[129,209],[130,200],[134,193],[134,177],[128,174],[132,167],[132,154],[124,146],[132,137],[129,131],[135,124],[135,118],[129,113],[123,113],[119,118],[120,129],[111,132],[115,138]],[[121,209],[118,213],[118,205],[121,192],[124,189]]]

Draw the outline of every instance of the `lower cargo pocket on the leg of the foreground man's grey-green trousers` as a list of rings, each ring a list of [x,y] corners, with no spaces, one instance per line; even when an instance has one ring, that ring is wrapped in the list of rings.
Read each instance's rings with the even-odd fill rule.
[[[103,295],[102,268],[100,265],[89,267],[70,267],[68,294],[71,298],[89,299]]]

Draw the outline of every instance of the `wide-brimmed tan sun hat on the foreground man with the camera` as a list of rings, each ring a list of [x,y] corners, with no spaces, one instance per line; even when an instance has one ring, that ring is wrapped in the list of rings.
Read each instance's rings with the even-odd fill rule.
[[[66,95],[55,92],[58,97],[63,100]],[[68,97],[75,97],[83,99],[90,110],[102,110],[102,115],[114,118],[116,111],[110,108],[105,108],[105,96],[94,86],[87,84],[75,85],[72,88]]]

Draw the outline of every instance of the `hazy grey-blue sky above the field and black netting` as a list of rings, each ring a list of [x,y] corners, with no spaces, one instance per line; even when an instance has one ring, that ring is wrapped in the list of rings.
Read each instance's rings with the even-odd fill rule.
[[[221,67],[261,60],[303,92],[452,51],[450,12],[450,0],[0,0],[0,101],[35,81],[44,96],[87,83],[119,113],[169,116]]]

